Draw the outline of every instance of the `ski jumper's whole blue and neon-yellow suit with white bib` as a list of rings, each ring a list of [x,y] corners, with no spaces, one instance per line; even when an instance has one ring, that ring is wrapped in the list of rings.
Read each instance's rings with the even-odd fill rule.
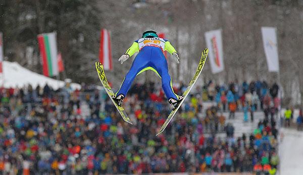
[[[146,70],[152,70],[162,79],[162,89],[166,97],[168,99],[174,98],[178,100],[179,97],[174,93],[172,79],[168,73],[167,61],[163,54],[165,50],[171,54],[176,52],[171,43],[163,38],[140,38],[136,40],[132,46],[126,50],[125,54],[132,56],[135,52],[139,51],[139,53],[136,55],[116,96],[120,94],[126,96],[135,77]]]

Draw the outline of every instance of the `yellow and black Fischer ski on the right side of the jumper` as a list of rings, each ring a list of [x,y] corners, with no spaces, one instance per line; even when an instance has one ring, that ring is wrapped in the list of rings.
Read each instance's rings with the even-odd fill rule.
[[[179,107],[181,106],[181,104],[184,102],[186,96],[189,94],[190,90],[192,89],[193,85],[195,84],[196,80],[198,79],[198,77],[199,77],[199,75],[200,75],[200,73],[201,73],[201,71],[202,71],[202,69],[204,67],[205,61],[207,59],[208,51],[209,51],[208,48],[205,48],[203,50],[202,56],[201,56],[201,59],[200,59],[200,62],[199,62],[199,66],[198,66],[198,68],[197,68],[197,70],[196,70],[193,78],[189,82],[186,90],[184,91],[184,93],[182,95],[184,98],[179,103],[179,105],[175,109],[173,109],[171,111],[171,113],[168,115],[168,118],[166,119],[165,123],[162,125],[160,131],[158,132],[158,134],[156,136],[158,136],[159,134],[161,134],[165,130],[165,128],[167,127],[167,125],[173,119],[174,115],[177,113],[177,111],[178,111]]]

